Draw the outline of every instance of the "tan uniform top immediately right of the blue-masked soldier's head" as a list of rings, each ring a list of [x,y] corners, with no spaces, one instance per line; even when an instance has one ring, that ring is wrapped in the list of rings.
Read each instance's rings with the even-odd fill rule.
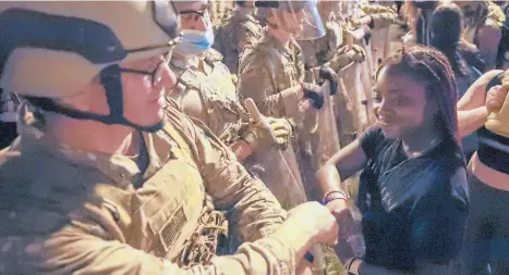
[[[247,8],[237,8],[217,29],[214,48],[225,57],[231,73],[239,70],[239,57],[245,46],[255,43],[262,36],[262,26]]]

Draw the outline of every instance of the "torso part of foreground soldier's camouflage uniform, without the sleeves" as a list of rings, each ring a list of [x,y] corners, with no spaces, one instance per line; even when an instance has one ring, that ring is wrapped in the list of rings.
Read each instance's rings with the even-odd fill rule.
[[[158,138],[152,139],[153,150],[159,143],[165,148],[170,146],[170,153],[167,160],[160,159],[163,162],[160,168],[138,189],[134,189],[132,179],[125,178],[122,170],[108,176],[100,172],[111,170],[110,163],[121,159],[113,157],[97,162],[87,159],[89,154],[62,157],[58,151],[31,151],[29,143],[24,145],[28,155],[8,160],[1,166],[0,182],[5,186],[0,190],[0,198],[8,203],[4,205],[12,198],[17,207],[15,220],[10,226],[2,226],[0,235],[46,236],[72,224],[101,239],[117,240],[181,265],[192,265],[196,253],[184,253],[192,250],[191,240],[197,239],[197,234],[210,232],[204,229],[207,221],[203,217],[211,211],[206,208],[197,157],[189,146],[193,141],[184,133],[170,120],[162,132],[154,134]],[[43,162],[45,165],[40,165]],[[21,167],[29,167],[31,173]],[[113,183],[110,176],[117,180]],[[20,191],[22,197],[16,197]],[[11,215],[12,209],[0,207],[0,216]],[[207,260],[207,257],[199,259]]]

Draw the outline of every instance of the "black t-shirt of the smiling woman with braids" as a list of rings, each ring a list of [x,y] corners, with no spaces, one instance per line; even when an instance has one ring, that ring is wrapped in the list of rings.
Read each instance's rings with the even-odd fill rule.
[[[446,155],[447,142],[408,159],[400,140],[379,126],[361,137],[367,165],[357,204],[363,212],[364,260],[389,270],[414,271],[417,262],[456,259],[468,215],[466,176],[461,157]]]

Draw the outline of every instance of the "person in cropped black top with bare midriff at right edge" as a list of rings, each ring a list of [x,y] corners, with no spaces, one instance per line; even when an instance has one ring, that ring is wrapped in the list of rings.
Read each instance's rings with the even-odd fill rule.
[[[471,204],[462,251],[465,275],[509,274],[508,91],[509,71],[494,70],[458,102],[462,135],[478,128],[480,137],[468,166]]]

